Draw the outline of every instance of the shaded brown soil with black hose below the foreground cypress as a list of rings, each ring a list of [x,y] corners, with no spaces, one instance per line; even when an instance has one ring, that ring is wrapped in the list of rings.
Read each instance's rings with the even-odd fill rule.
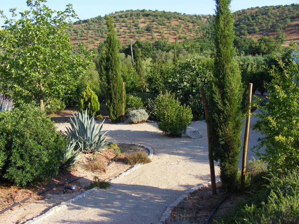
[[[170,222],[173,223],[176,220],[188,220],[194,224],[205,224],[216,205],[230,193],[221,189],[221,183],[216,184],[216,187],[217,195],[213,195],[212,188],[207,187],[194,192],[184,199],[175,209],[173,209]],[[212,220],[219,220],[233,209],[235,203],[242,200],[244,200],[243,195],[238,193],[231,194],[213,214]]]

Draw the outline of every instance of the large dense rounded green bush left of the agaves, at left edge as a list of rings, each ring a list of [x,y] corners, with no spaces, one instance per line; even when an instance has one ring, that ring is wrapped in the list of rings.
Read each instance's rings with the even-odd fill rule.
[[[40,108],[21,105],[0,113],[0,178],[34,185],[57,174],[65,137]]]

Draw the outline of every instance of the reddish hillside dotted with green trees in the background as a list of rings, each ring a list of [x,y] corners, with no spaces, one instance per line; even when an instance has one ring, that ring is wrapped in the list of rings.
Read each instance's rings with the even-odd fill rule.
[[[213,39],[212,15],[186,15],[165,11],[126,10],[109,14],[123,45],[129,40],[165,40],[178,42],[199,37]],[[278,39],[299,38],[299,5],[252,7],[234,12],[237,36],[268,35]],[[106,22],[102,16],[79,20],[68,30],[71,43],[83,41],[88,48],[97,47],[106,38]],[[277,36],[278,35],[278,36]],[[287,43],[286,43],[287,44]]]

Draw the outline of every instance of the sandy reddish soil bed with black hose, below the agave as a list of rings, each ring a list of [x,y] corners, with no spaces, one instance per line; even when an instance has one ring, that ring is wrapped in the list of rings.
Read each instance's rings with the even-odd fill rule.
[[[59,173],[51,180],[40,183],[37,186],[23,189],[20,187],[12,186],[9,183],[0,184],[0,211],[2,211],[3,209],[8,208],[10,205],[24,200],[31,195],[37,194],[45,189],[51,188],[60,183],[76,179],[78,177],[82,177],[81,179],[67,184],[69,186],[75,186],[75,191],[66,190],[66,193],[64,194],[63,190],[65,185],[61,185],[43,194],[34,196],[28,201],[23,202],[20,205],[16,205],[10,210],[7,210],[4,213],[0,214],[0,223],[25,223],[26,221],[47,212],[50,208],[59,205],[61,202],[82,194],[83,191],[85,191],[85,188],[91,183],[94,176],[99,177],[99,179],[108,181],[131,168],[131,165],[128,165],[123,161],[123,158],[126,154],[130,154],[135,151],[143,151],[147,154],[149,153],[147,149],[137,145],[118,144],[118,147],[121,150],[121,154],[114,162],[106,167],[106,172],[88,171],[86,169],[86,161],[90,160],[93,155],[82,154],[83,158],[76,164],[73,170],[67,173]],[[117,155],[110,150],[102,151],[102,153],[103,155],[100,157],[101,159],[103,159],[103,162],[106,166]]]

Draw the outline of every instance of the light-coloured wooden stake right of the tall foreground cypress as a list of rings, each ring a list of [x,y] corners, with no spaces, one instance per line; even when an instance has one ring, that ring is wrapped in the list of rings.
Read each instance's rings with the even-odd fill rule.
[[[248,116],[246,118],[244,143],[243,143],[243,156],[242,156],[241,189],[240,189],[241,194],[243,194],[244,190],[245,190],[245,171],[246,171],[246,157],[247,157],[249,124],[250,124],[251,94],[252,94],[252,83],[249,83],[248,99],[247,99]]]

